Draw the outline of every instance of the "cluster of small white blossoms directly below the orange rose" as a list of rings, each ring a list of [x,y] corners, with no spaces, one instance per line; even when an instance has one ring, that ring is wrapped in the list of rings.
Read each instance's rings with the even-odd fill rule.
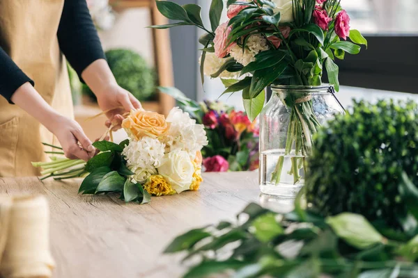
[[[164,157],[164,149],[164,143],[146,136],[139,141],[131,140],[122,154],[125,156],[129,170],[137,172],[141,169],[159,167]]]

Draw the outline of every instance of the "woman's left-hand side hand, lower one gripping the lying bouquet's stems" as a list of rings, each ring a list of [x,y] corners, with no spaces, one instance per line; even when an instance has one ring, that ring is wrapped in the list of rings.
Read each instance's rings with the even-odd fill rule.
[[[95,155],[91,140],[87,138],[82,127],[75,120],[57,115],[47,127],[58,138],[67,158],[88,161]]]

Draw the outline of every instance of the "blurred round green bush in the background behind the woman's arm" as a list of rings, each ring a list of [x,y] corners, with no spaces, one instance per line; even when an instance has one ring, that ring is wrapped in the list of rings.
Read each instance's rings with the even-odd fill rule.
[[[155,94],[155,72],[137,52],[129,49],[106,51],[107,63],[122,88],[132,92],[140,101],[152,99]],[[84,93],[95,100],[95,95],[84,86]]]

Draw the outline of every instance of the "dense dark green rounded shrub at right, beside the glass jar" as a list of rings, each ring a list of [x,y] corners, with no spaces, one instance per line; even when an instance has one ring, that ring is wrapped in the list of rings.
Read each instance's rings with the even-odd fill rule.
[[[364,215],[385,234],[418,234],[418,106],[356,102],[318,131],[307,201],[318,213]]]

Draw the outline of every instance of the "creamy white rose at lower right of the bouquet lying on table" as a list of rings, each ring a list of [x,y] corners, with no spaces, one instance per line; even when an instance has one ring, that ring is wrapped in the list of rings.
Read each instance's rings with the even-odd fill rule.
[[[177,193],[182,193],[192,184],[194,166],[187,152],[176,150],[164,156],[158,173],[167,179]]]

